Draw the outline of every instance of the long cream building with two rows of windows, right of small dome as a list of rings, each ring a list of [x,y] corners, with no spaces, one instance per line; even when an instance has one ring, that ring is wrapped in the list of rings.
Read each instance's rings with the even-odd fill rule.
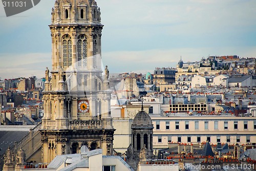
[[[154,148],[168,142],[247,144],[256,142],[256,118],[235,116],[153,117]]]

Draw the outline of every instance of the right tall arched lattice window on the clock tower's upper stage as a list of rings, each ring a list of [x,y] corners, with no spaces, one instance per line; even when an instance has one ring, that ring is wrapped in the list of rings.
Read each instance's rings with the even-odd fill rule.
[[[87,66],[87,39],[85,35],[80,35],[77,40],[77,65]]]

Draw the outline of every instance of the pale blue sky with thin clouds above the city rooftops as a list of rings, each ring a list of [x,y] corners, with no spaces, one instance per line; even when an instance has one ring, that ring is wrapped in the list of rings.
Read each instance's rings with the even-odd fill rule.
[[[209,55],[256,57],[255,0],[97,0],[102,62],[110,73],[145,74]],[[51,69],[51,9],[41,0],[6,17],[0,3],[0,79]]]

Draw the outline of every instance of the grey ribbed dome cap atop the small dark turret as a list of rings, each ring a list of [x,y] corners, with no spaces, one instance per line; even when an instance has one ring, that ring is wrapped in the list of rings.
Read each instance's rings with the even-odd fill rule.
[[[132,127],[153,127],[151,117],[145,111],[139,111],[133,119]]]

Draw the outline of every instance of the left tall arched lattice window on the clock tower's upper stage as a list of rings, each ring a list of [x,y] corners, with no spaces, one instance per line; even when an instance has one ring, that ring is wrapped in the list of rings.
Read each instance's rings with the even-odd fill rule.
[[[72,66],[72,40],[69,35],[63,37],[63,67]]]

